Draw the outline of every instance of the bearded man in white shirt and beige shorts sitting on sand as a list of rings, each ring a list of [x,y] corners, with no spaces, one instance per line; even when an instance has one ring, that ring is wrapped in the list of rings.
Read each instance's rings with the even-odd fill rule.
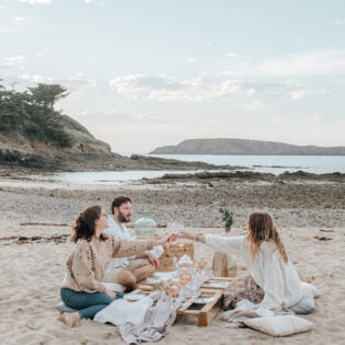
[[[112,203],[113,217],[108,217],[108,228],[105,233],[115,238],[135,239],[127,230],[126,222],[131,218],[131,200],[126,196],[117,196]],[[159,251],[158,251],[159,252]],[[117,283],[128,290],[136,287],[136,284],[149,277],[158,268],[159,261],[151,252],[146,252],[131,257],[115,257],[111,261],[104,281]]]

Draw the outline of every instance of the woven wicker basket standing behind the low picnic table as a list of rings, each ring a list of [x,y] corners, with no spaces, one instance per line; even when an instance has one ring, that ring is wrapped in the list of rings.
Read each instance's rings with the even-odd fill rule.
[[[159,258],[159,272],[171,272],[174,256],[176,256],[177,262],[183,255],[188,255],[194,260],[194,244],[185,240],[177,240],[176,242],[165,243],[163,245],[164,253]]]

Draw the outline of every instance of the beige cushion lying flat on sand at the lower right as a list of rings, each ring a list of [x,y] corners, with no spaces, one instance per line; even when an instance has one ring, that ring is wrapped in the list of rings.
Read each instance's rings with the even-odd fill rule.
[[[245,320],[243,323],[251,329],[273,336],[287,336],[307,332],[314,325],[312,322],[296,315],[254,318]]]

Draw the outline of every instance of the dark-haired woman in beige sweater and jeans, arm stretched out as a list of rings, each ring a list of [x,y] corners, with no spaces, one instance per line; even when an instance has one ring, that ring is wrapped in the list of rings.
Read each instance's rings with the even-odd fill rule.
[[[119,295],[102,283],[107,265],[113,257],[136,255],[165,243],[169,235],[147,241],[126,241],[105,234],[107,216],[100,205],[87,207],[77,218],[72,242],[76,248],[69,256],[60,296],[67,307],[78,312],[64,313],[62,320],[73,326],[81,318],[93,317]]]

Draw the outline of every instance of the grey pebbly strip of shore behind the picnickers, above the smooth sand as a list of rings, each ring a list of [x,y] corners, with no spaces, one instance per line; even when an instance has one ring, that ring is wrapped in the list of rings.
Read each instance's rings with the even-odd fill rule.
[[[262,181],[242,177],[128,181],[124,184],[69,184],[33,175],[0,176],[3,220],[71,223],[90,204],[110,210],[115,195],[133,199],[134,218],[148,209],[158,225],[179,221],[187,227],[221,227],[226,203],[234,226],[245,227],[250,212],[272,214],[278,227],[341,227],[345,221],[345,183],[341,180]],[[338,177],[338,176],[337,176]],[[134,223],[134,222],[133,222]]]

